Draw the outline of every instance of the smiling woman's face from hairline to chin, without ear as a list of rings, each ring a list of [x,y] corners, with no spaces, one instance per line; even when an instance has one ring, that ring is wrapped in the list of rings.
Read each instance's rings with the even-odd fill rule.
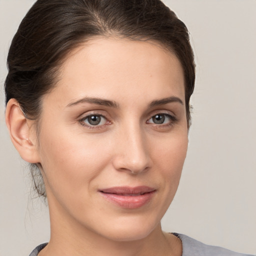
[[[38,156],[51,227],[145,237],[173,199],[186,149],[177,57],[153,42],[91,39],[42,98]]]

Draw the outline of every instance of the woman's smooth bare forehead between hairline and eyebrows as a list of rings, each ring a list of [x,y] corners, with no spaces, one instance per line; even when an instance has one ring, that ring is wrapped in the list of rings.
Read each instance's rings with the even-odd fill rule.
[[[73,99],[90,93],[112,97],[118,92],[132,97],[135,91],[144,97],[183,97],[183,76],[177,57],[155,42],[100,37],[69,53],[54,90],[63,98],[68,91]]]

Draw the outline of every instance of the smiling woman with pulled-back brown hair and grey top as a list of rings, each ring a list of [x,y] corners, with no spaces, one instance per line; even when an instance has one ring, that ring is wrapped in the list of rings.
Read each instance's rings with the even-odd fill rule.
[[[31,256],[241,255],[161,230],[194,86],[187,29],[162,2],[38,0],[7,61],[7,127],[50,212]]]

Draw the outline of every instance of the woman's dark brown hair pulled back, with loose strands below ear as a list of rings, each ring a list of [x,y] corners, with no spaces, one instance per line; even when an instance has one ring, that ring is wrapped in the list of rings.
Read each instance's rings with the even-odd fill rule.
[[[189,125],[189,98],[195,80],[189,34],[184,23],[160,0],[37,0],[9,48],[6,104],[15,98],[26,118],[39,120],[42,95],[53,88],[67,54],[99,35],[153,40],[173,52],[183,67]],[[38,194],[45,196],[35,164],[31,173]]]

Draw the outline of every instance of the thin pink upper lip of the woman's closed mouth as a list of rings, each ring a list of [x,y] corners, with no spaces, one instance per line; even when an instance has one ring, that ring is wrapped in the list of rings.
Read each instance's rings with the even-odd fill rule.
[[[114,186],[104,189],[99,189],[100,192],[112,194],[144,194],[154,191],[155,188],[149,186]]]

